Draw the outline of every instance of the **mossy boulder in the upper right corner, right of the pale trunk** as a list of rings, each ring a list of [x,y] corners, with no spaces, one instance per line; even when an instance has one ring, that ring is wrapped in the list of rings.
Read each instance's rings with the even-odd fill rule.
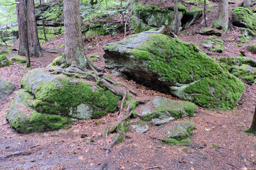
[[[235,7],[231,13],[233,13],[232,23],[234,26],[255,30],[256,13],[250,11],[249,8]]]

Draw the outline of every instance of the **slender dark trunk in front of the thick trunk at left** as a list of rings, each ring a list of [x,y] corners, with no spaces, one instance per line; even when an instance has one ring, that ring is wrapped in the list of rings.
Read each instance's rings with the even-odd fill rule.
[[[28,0],[24,0],[24,36],[26,48],[26,67],[31,67],[29,48],[28,48]]]

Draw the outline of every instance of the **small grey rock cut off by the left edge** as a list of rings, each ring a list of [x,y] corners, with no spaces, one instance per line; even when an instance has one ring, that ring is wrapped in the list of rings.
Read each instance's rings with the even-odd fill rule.
[[[4,100],[15,90],[15,84],[12,84],[10,81],[5,81],[0,79],[0,101]]]

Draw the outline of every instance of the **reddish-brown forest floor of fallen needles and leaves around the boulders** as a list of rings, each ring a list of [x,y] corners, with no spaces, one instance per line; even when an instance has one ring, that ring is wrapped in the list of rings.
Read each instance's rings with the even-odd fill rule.
[[[238,3],[231,4],[230,7],[237,5]],[[215,11],[208,18],[209,25],[217,17],[217,8],[218,4],[215,4]],[[195,25],[183,30],[179,38],[201,44],[207,38],[198,34],[201,28],[204,28],[202,18]],[[129,33],[132,33],[132,30]],[[229,41],[225,41],[225,50],[221,54],[210,52],[202,46],[201,49],[210,57],[235,57],[239,51],[244,50],[247,57],[256,60],[256,55],[247,52],[248,44],[238,48],[238,35],[238,28],[223,33],[220,39]],[[85,43],[85,53],[87,57],[100,56],[100,60],[94,64],[104,67],[102,46],[107,42],[121,40],[123,35],[93,37],[94,40]],[[43,57],[32,58],[30,69],[23,69],[24,64],[15,62],[9,67],[0,68],[0,79],[16,84],[16,91],[0,102],[0,169],[96,169],[103,163],[107,163],[108,169],[256,169],[256,137],[242,132],[250,127],[256,102],[256,87],[247,84],[235,110],[216,111],[196,107],[192,118],[174,120],[159,126],[149,123],[149,131],[144,134],[139,134],[130,127],[127,135],[131,138],[115,145],[109,153],[104,148],[110,145],[114,134],[107,137],[102,134],[107,127],[117,123],[117,112],[97,119],[100,121],[98,124],[95,123],[97,120],[85,120],[73,123],[69,129],[53,132],[33,132],[28,135],[15,132],[6,121],[6,113],[21,86],[23,75],[31,69],[50,64],[55,57],[63,53],[64,48],[60,48],[63,43],[64,36],[61,35],[43,44]],[[256,40],[251,43],[256,43]],[[17,50],[18,42],[8,48]],[[0,46],[0,49],[6,50],[7,47]],[[53,54],[46,50],[58,52]],[[7,57],[16,55],[17,52],[12,50]],[[109,75],[136,92],[139,99],[165,96],[178,100],[135,84],[134,81]],[[132,119],[131,123],[138,119]],[[103,124],[103,121],[106,124]],[[164,138],[166,128],[182,121],[191,121],[196,125],[191,136],[193,145],[171,146],[151,139]],[[85,135],[86,140],[82,140],[81,135]]]

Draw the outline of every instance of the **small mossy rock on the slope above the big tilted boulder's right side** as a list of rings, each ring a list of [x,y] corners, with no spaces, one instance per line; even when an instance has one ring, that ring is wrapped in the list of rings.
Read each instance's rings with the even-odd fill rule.
[[[203,46],[208,48],[212,52],[223,52],[224,50],[224,42],[218,38],[210,36],[207,40],[203,41]]]

